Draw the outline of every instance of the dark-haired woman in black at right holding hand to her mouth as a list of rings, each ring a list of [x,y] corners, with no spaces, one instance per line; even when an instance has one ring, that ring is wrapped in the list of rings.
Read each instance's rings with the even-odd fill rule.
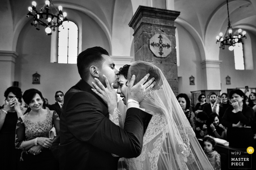
[[[244,92],[239,89],[229,94],[231,106],[227,108],[222,118],[222,125],[227,127],[229,146],[239,149],[253,147],[253,132],[251,129],[254,112],[245,103]]]

